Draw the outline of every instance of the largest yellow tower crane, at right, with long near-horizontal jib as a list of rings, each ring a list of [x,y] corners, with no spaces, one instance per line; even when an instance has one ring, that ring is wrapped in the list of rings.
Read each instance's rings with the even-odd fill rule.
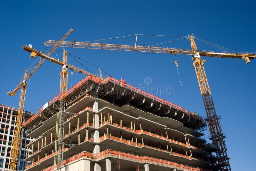
[[[229,159],[227,155],[227,147],[224,138],[225,134],[222,133],[220,126],[220,117],[216,114],[215,107],[212,100],[212,94],[208,85],[206,74],[204,71],[204,62],[201,56],[208,57],[221,57],[221,58],[237,58],[244,59],[245,63],[250,63],[250,59],[254,59],[255,53],[219,53],[202,50],[199,51],[194,41],[194,35],[187,37],[191,42],[190,49],[178,49],[178,48],[161,48],[152,46],[135,46],[132,45],[118,45],[118,44],[104,44],[104,43],[88,43],[88,42],[72,42],[72,41],[46,41],[46,46],[59,46],[65,48],[88,48],[88,49],[103,49],[103,50],[119,50],[119,51],[132,51],[132,52],[149,52],[149,53],[166,53],[172,55],[191,55],[194,61],[196,76],[203,97],[204,108],[206,111],[205,120],[208,123],[210,137],[212,144],[216,145],[218,150],[216,151],[216,158],[212,160],[212,166],[214,170],[230,171]],[[213,157],[213,156],[212,156]]]

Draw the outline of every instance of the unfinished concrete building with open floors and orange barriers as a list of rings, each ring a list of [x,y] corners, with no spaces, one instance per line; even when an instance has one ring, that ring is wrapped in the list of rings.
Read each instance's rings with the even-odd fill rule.
[[[87,76],[66,93],[62,170],[211,169],[196,113],[112,77]],[[53,171],[60,98],[47,102],[22,127],[34,138],[26,170]]]

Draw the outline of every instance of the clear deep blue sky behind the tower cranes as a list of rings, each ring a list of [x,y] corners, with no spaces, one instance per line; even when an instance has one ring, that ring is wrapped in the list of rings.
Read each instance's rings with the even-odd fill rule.
[[[18,107],[20,91],[12,91],[24,71],[36,60],[21,48],[24,44],[45,50],[44,41],[60,40],[70,28],[67,41],[91,41],[130,34],[182,35],[234,49],[256,51],[255,2],[253,1],[3,1],[0,6],[1,80],[0,103]],[[173,39],[139,36],[137,44],[154,45]],[[135,37],[102,41],[134,45]],[[196,41],[198,49],[218,50]],[[162,47],[190,48],[187,40]],[[62,59],[62,48],[52,56]],[[172,86],[172,94],[158,94],[187,110],[205,116],[200,89],[190,56],[144,54],[116,51],[66,49],[70,53],[124,78],[131,85]],[[207,58],[205,70],[223,132],[227,134],[228,156],[232,170],[253,170],[255,152],[255,67],[243,60]],[[180,77],[174,64],[178,61]],[[68,56],[68,63],[83,68]],[[92,72],[98,69],[83,63]],[[61,66],[45,62],[32,76],[27,89],[25,110],[37,112],[59,92]],[[84,78],[74,73],[72,84]],[[71,87],[69,75],[68,88]],[[176,94],[175,94],[176,93]],[[175,95],[174,95],[175,94]],[[205,131],[208,137],[208,130]],[[208,140],[208,142],[210,142]]]

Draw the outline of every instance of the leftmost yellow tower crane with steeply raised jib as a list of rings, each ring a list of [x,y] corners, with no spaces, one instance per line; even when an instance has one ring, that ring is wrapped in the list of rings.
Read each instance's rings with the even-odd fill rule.
[[[73,29],[71,28],[68,33],[66,33],[60,41],[64,41],[70,33],[73,32]],[[50,52],[47,55],[51,55],[52,52],[57,48],[57,46],[53,46],[50,49]],[[45,59],[41,60],[36,67],[27,75],[28,70],[25,71],[24,78],[21,81],[21,83],[11,92],[9,91],[7,94],[11,96],[15,96],[17,91],[21,88],[20,93],[20,102],[19,102],[19,109],[18,109],[18,115],[15,125],[15,133],[14,138],[12,141],[12,152],[11,152],[11,162],[10,162],[10,170],[15,171],[16,166],[18,164],[17,158],[20,151],[20,130],[21,130],[21,124],[22,124],[22,117],[23,117],[23,109],[24,109],[24,102],[25,102],[25,96],[26,96],[26,89],[27,89],[27,80],[36,72],[36,70],[44,63]]]

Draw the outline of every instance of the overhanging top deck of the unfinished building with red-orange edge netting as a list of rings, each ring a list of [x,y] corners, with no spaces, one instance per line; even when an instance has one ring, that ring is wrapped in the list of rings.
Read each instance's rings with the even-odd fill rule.
[[[206,127],[206,122],[201,116],[112,77],[100,79],[88,75],[64,93],[62,97],[67,102],[66,106],[69,107],[85,95],[94,95],[95,93],[98,93],[99,99],[111,104],[120,107],[129,105],[160,117],[169,117],[195,131],[204,130]],[[59,101],[59,96],[54,97],[40,108],[36,115],[27,119],[22,126],[28,129],[40,120],[49,119],[59,111]]]

